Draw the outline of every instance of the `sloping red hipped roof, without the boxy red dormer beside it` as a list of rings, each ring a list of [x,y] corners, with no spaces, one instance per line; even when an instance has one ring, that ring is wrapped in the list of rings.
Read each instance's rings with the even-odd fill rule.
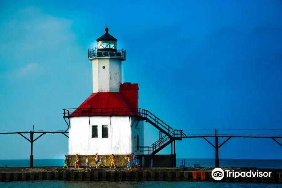
[[[130,108],[118,92],[92,93],[70,116],[134,115],[136,108]]]

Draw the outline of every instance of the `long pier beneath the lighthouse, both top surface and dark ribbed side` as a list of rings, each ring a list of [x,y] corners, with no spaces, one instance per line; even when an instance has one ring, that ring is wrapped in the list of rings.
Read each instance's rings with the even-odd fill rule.
[[[62,181],[210,181],[212,170],[205,168],[143,168],[141,171],[129,172],[125,168],[99,168],[85,172],[86,169],[62,169],[55,167],[34,168],[0,168],[2,181],[62,180]],[[250,168],[233,168],[237,171],[249,171]],[[134,169],[133,169],[134,170]],[[253,169],[252,171],[272,172],[270,177],[227,177],[219,182],[256,182],[282,184],[281,169]],[[0,184],[1,185],[1,184]]]

